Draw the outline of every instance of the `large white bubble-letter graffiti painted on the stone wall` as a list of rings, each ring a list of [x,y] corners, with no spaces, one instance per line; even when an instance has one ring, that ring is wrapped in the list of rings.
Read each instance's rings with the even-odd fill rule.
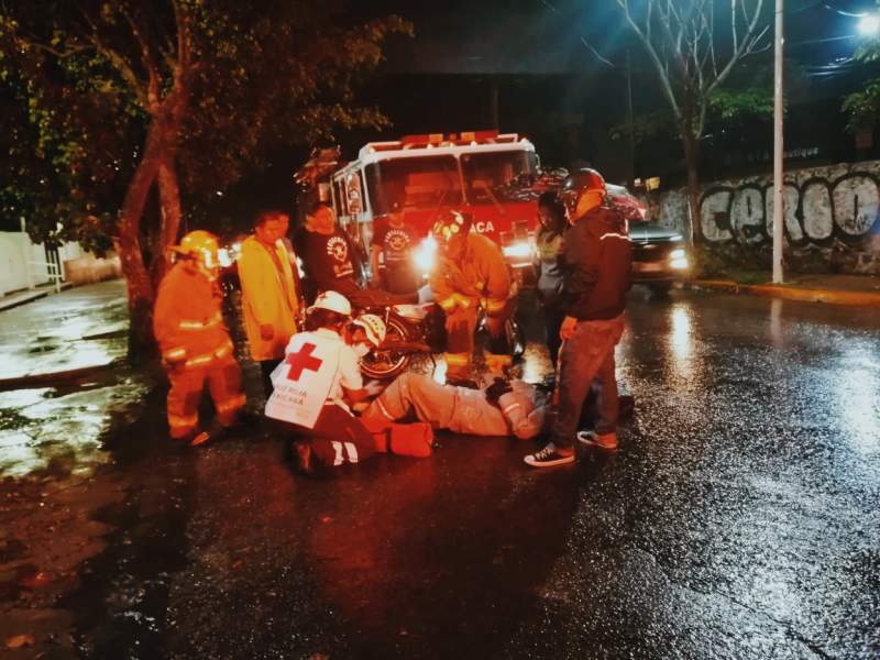
[[[812,173],[801,182],[787,182],[783,199],[785,235],[794,245],[858,241],[880,231],[880,178],[871,172],[853,170],[836,178]],[[701,197],[700,211],[707,241],[772,241],[773,188],[767,183],[711,186]]]

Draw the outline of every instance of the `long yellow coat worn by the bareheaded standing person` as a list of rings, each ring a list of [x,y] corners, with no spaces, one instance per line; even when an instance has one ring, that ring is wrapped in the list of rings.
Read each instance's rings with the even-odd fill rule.
[[[239,257],[244,330],[251,358],[257,362],[284,358],[284,348],[296,332],[299,312],[299,294],[287,249],[280,241],[274,248],[280,273],[270,250],[251,237],[241,244]],[[260,326],[272,326],[272,339],[262,338]]]

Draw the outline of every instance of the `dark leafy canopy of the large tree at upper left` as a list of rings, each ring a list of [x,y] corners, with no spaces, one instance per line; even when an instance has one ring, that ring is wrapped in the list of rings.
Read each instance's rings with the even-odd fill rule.
[[[348,24],[336,0],[261,7],[7,2],[3,213],[25,217],[36,240],[108,246],[158,103],[176,85],[186,85],[187,102],[166,146],[189,199],[265,165],[271,148],[385,121],[377,109],[354,103],[354,89],[381,61],[383,41],[409,32],[407,23],[389,16]]]

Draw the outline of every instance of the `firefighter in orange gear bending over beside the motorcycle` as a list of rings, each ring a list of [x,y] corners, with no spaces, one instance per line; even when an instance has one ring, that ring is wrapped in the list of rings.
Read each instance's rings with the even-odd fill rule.
[[[512,362],[505,326],[516,299],[504,254],[486,237],[472,233],[471,223],[470,216],[455,211],[435,223],[440,258],[430,276],[431,289],[447,315],[447,382],[469,385],[480,307],[490,333],[486,365],[499,375]]]

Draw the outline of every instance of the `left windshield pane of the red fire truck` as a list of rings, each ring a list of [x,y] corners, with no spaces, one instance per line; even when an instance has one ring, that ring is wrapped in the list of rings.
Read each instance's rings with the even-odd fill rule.
[[[367,165],[366,188],[374,216],[394,208],[435,208],[462,204],[454,156],[388,158]]]

